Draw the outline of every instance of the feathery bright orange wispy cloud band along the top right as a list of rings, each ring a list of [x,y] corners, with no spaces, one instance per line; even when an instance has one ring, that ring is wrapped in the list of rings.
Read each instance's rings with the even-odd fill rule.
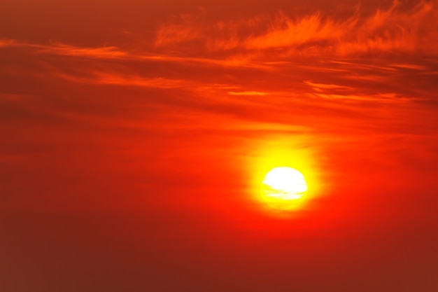
[[[350,15],[317,12],[290,16],[279,11],[250,19],[210,23],[205,15],[182,15],[163,25],[155,46],[180,53],[296,57],[438,52],[437,1],[421,1],[403,9],[398,1],[374,13],[360,6]],[[204,50],[200,52],[199,50]],[[275,57],[273,57],[273,55]]]

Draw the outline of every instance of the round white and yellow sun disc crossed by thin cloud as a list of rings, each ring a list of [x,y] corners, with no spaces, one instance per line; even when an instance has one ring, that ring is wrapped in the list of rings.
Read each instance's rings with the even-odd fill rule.
[[[262,181],[262,197],[275,209],[297,209],[307,191],[306,179],[291,167],[275,167]]]

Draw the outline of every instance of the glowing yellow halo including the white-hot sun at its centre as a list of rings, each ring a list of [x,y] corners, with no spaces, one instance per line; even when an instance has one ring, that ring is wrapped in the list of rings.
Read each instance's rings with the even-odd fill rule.
[[[277,127],[277,125],[275,126]],[[246,155],[248,199],[257,211],[278,218],[302,216],[317,207],[327,185],[313,137],[278,134]]]

